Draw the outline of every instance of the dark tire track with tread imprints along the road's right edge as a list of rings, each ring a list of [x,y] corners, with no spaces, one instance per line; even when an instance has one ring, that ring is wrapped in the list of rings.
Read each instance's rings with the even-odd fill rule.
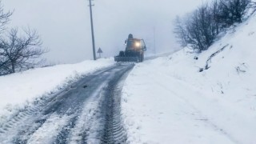
[[[127,75],[118,75],[116,78],[126,78]],[[121,93],[124,81],[110,82],[108,86],[107,94],[110,98],[107,98],[105,102],[105,111],[102,110],[102,114],[105,115],[105,128],[102,137],[102,143],[125,143],[127,140],[126,130],[123,127],[121,117]],[[106,109],[107,107],[107,109]]]

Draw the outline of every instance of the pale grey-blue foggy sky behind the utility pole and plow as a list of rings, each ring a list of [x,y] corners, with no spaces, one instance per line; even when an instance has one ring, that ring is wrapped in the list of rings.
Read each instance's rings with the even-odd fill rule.
[[[144,38],[147,54],[178,48],[173,34],[176,15],[186,14],[206,0],[94,0],[96,49],[109,57],[123,50],[128,34]],[[38,30],[48,62],[74,63],[92,59],[88,0],[2,0],[14,10],[9,26]]]

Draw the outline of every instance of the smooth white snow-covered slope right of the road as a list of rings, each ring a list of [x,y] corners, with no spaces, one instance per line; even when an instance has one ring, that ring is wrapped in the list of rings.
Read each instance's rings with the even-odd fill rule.
[[[202,54],[184,49],[136,65],[122,90],[128,141],[253,144],[255,39],[254,16]],[[206,62],[210,68],[199,72]]]

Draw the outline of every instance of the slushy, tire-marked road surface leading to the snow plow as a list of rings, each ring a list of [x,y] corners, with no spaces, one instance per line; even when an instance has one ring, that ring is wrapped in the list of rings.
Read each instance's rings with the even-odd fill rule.
[[[121,143],[122,83],[134,64],[117,64],[42,98],[0,126],[1,143]]]

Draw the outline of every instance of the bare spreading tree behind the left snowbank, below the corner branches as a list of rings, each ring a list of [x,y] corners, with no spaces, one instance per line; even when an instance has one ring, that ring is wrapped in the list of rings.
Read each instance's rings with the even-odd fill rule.
[[[36,30],[11,29],[6,38],[0,39],[2,67],[6,74],[30,69],[40,62],[40,56],[46,52]],[[1,64],[1,63],[0,63]]]

